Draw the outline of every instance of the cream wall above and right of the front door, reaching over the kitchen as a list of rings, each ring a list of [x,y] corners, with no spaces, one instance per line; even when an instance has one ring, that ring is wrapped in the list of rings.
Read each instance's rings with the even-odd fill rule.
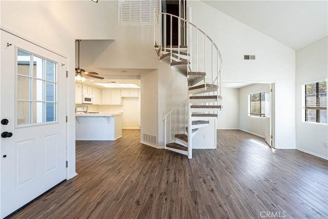
[[[75,173],[75,39],[114,39],[116,1],[0,1],[1,28],[68,58],[68,178]],[[81,12],[81,13],[79,13]],[[87,16],[86,16],[87,15]],[[106,21],[106,22],[104,22]]]

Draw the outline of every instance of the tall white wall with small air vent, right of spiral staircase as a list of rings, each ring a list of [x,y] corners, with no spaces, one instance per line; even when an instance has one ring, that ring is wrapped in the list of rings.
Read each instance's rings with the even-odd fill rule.
[[[193,23],[222,53],[222,81],[275,83],[275,146],[296,148],[295,51],[204,3],[188,1],[188,6]],[[256,60],[244,61],[243,54],[255,54]],[[291,98],[284,98],[286,93]]]

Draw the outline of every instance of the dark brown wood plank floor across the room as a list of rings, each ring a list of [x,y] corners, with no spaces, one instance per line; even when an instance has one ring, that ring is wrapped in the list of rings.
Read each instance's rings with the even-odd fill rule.
[[[78,175],[12,218],[327,218],[327,161],[218,130],[193,159],[139,143],[77,141]]]

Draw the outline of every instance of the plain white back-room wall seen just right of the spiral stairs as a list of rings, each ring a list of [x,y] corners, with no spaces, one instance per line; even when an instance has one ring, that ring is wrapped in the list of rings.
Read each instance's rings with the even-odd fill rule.
[[[239,89],[221,88],[222,110],[218,111],[217,129],[239,129]]]

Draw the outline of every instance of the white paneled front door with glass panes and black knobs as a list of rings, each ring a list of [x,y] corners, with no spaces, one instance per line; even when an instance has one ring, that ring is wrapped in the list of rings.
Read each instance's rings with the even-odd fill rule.
[[[66,179],[66,62],[1,30],[1,218]]]

